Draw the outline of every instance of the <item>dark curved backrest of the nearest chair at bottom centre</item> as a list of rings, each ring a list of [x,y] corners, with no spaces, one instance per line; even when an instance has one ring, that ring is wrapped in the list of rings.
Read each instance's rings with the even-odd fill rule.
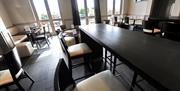
[[[64,59],[60,59],[54,77],[55,91],[73,91],[75,82]]]

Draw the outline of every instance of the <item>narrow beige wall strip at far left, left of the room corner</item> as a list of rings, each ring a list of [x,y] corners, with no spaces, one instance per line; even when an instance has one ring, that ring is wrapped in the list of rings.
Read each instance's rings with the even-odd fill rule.
[[[9,15],[5,10],[2,0],[0,0],[0,17],[2,18],[6,27],[13,26],[13,24],[11,23],[11,20],[9,18]]]

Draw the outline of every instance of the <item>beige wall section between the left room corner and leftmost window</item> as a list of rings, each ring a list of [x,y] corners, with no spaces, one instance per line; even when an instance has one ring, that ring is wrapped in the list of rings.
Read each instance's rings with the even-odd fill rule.
[[[16,25],[35,21],[28,0],[4,0],[3,2],[13,24]]]

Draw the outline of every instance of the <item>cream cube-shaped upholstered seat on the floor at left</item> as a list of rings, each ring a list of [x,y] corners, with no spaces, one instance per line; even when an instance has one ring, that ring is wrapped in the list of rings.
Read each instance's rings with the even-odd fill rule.
[[[30,42],[22,42],[16,45],[17,51],[20,57],[31,56],[34,52],[34,48],[32,47]]]

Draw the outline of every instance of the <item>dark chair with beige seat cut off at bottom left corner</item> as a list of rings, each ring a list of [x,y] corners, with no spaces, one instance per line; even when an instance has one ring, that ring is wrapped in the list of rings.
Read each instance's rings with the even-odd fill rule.
[[[6,88],[8,90],[8,86],[16,84],[21,91],[25,91],[19,81],[23,78],[28,78],[33,84],[34,80],[22,68],[20,59],[17,57],[17,55],[13,54],[16,57],[16,60],[14,60],[13,57],[9,57],[11,52],[6,55],[8,56],[4,57],[4,69],[0,70],[0,88]]]

